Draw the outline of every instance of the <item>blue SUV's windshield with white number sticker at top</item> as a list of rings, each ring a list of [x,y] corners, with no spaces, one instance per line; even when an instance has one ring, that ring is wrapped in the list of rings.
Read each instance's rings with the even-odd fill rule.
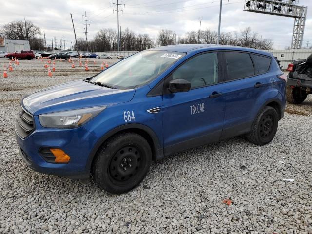
[[[117,89],[132,89],[148,83],[181,59],[185,53],[145,50],[124,59],[91,79]]]

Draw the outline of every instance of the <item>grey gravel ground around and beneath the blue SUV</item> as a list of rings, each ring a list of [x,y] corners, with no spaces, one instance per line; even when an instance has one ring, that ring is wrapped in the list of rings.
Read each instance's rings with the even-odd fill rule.
[[[89,72],[58,61],[52,78],[40,61],[20,60],[0,78],[0,233],[312,234],[312,95],[287,106],[269,145],[235,137],[175,154],[126,194],[29,169],[13,132],[20,98],[87,78],[99,60]]]

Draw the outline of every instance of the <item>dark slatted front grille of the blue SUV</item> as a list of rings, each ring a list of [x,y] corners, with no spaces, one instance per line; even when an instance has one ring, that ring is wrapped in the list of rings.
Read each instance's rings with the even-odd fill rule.
[[[33,116],[23,109],[19,110],[15,122],[15,128],[20,137],[26,138],[34,129]]]

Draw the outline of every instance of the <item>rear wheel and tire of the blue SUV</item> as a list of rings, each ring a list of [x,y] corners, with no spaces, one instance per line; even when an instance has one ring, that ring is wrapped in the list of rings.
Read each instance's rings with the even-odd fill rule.
[[[264,107],[254,120],[251,132],[246,135],[247,139],[256,145],[270,143],[277,132],[278,120],[278,113],[273,107]]]

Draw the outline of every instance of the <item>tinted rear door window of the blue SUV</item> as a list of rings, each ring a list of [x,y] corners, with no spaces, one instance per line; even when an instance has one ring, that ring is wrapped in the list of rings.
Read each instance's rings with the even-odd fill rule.
[[[224,52],[228,68],[227,80],[246,78],[254,75],[254,65],[249,53]]]

